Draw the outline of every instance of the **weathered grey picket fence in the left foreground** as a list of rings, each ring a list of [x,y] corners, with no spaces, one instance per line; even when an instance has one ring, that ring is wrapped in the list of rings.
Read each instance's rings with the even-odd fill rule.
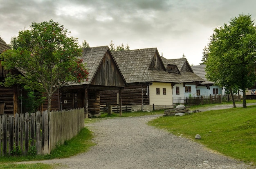
[[[84,108],[0,116],[0,156],[50,154],[56,145],[76,136],[84,127]]]

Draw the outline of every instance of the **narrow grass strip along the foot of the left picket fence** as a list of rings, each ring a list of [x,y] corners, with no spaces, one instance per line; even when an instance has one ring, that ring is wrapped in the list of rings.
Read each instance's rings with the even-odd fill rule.
[[[91,142],[92,132],[87,128],[81,129],[79,134],[71,140],[65,141],[63,145],[58,145],[49,155],[45,156],[3,156],[0,158],[0,164],[7,162],[31,161],[31,160],[49,160],[54,158],[67,158],[79,153],[85,152],[89,147],[95,145]],[[0,167],[1,168],[1,167]]]

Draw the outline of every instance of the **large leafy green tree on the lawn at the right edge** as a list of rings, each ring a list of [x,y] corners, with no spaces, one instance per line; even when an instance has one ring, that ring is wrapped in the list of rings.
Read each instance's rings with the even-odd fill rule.
[[[206,64],[207,78],[220,86],[243,90],[256,80],[256,27],[251,15],[239,15],[229,24],[213,29]],[[232,92],[232,91],[231,91]]]

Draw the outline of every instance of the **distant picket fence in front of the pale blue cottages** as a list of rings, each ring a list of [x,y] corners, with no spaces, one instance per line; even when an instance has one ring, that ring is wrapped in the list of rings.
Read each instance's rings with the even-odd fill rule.
[[[198,97],[173,97],[173,105],[183,104],[185,106],[221,103],[221,95],[209,95]]]

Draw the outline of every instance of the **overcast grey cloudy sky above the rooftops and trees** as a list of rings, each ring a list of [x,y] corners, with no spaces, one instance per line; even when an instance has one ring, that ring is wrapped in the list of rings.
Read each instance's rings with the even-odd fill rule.
[[[90,47],[157,48],[167,59],[199,65],[213,29],[240,14],[256,18],[256,0],[0,0],[0,37],[53,20]]]

